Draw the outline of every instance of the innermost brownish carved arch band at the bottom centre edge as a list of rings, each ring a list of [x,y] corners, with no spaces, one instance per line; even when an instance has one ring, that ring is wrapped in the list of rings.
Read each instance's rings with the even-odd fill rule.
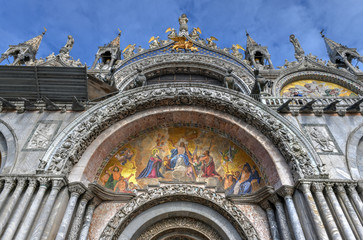
[[[138,240],[143,239],[154,239],[154,237],[162,234],[163,232],[167,232],[168,230],[174,229],[184,229],[186,232],[190,230],[195,230],[198,233],[201,233],[203,237],[208,240],[222,240],[221,236],[218,234],[216,230],[208,226],[207,224],[198,221],[194,218],[187,217],[174,217],[162,220],[151,227],[149,227],[144,233],[138,237]]]

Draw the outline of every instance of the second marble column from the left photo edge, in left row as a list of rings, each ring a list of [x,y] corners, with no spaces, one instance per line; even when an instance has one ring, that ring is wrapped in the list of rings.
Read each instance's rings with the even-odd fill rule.
[[[13,194],[11,195],[7,205],[5,206],[4,210],[2,211],[2,213],[0,215],[0,219],[1,219],[0,235],[3,233],[5,226],[8,223],[11,213],[13,212],[13,209],[19,200],[20,194],[24,190],[25,184],[26,184],[26,178],[17,178],[16,188],[15,188]]]

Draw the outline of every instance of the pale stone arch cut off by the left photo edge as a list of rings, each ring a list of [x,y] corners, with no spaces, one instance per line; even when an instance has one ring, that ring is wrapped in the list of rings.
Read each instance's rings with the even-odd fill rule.
[[[17,139],[13,129],[0,120],[0,173],[9,173],[17,156]]]

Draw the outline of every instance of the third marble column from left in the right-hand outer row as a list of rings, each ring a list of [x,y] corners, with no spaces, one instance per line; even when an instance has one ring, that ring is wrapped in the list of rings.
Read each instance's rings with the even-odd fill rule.
[[[335,196],[332,186],[333,184],[331,183],[325,183],[325,191],[332,204],[336,217],[340,222],[343,235],[345,236],[346,239],[355,239],[354,233],[348,223],[347,218],[344,215],[343,209],[340,206],[337,197]]]

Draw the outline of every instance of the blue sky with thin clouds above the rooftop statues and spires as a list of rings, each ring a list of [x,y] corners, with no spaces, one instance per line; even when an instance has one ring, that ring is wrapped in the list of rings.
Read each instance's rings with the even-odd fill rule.
[[[290,34],[305,54],[328,60],[320,31],[363,55],[363,0],[0,0],[0,52],[29,40],[47,28],[37,58],[57,54],[70,34],[70,55],[92,65],[98,46],[122,30],[121,50],[128,44],[148,48],[152,36],[167,39],[165,30],[179,29],[186,13],[189,30],[200,27],[202,38],[214,36],[217,46],[246,46],[246,30],[267,46],[274,66],[295,60]],[[2,63],[6,63],[6,60]]]

